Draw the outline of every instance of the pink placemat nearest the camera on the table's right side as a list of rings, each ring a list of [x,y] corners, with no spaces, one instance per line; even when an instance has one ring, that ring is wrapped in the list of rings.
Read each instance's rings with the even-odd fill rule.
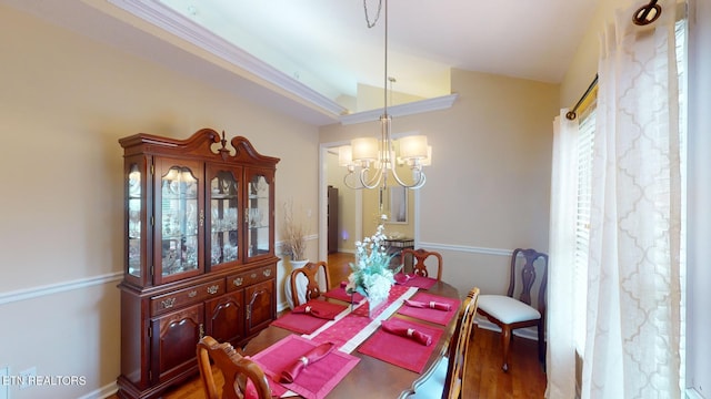
[[[400,337],[378,329],[363,342],[358,351],[414,372],[422,372],[427,360],[432,355],[432,350],[434,350],[437,342],[442,337],[443,330],[434,326],[425,326],[397,317],[389,319],[389,321],[395,326],[414,328],[418,331],[429,334],[432,336],[432,345],[424,346],[408,337]]]

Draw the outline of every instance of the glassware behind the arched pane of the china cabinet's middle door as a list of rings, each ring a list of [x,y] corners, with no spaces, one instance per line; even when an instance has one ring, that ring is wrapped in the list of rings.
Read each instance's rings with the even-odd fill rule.
[[[238,181],[230,171],[219,171],[210,181],[210,265],[239,258]]]

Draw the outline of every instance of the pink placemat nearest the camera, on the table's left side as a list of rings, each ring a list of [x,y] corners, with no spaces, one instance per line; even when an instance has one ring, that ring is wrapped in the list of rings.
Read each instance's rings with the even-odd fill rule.
[[[281,396],[286,390],[294,391],[306,399],[324,398],[336,385],[360,361],[359,358],[333,350],[321,360],[307,366],[292,383],[277,382],[281,371],[299,357],[316,348],[318,344],[290,335],[269,348],[252,356],[272,385],[272,393]]]

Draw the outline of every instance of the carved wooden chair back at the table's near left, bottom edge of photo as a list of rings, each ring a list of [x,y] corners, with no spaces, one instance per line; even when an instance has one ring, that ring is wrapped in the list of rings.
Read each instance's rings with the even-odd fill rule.
[[[207,399],[220,399],[210,359],[222,372],[222,399],[271,399],[264,371],[242,357],[229,342],[220,344],[210,336],[198,342],[198,368]]]

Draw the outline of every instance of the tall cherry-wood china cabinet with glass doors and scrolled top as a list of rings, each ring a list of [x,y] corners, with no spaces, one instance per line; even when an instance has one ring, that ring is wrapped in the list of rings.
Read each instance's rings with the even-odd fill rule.
[[[126,178],[120,398],[156,398],[197,372],[203,335],[242,346],[277,314],[279,158],[202,129],[119,140]]]

